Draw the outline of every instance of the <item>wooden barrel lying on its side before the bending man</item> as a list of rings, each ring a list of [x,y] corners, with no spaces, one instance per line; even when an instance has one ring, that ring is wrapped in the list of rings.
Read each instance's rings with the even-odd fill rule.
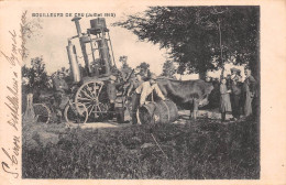
[[[168,123],[178,118],[178,109],[170,100],[150,102],[139,109],[139,119],[142,124]]]

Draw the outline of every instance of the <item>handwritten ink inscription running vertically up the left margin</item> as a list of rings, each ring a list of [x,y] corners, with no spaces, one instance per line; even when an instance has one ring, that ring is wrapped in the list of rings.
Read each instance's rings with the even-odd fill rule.
[[[19,129],[19,66],[21,66],[21,59],[22,59],[22,47],[18,47],[16,39],[18,34],[16,32],[9,31],[9,34],[11,36],[11,52],[9,54],[0,51],[0,56],[3,56],[4,61],[8,62],[8,65],[10,65],[11,74],[9,76],[12,77],[12,83],[7,86],[8,89],[8,96],[7,101],[4,102],[6,107],[8,108],[8,121],[7,123],[14,130],[14,132],[11,132],[11,143],[9,148],[1,148],[2,152],[4,153],[4,159],[1,162],[2,170],[12,175],[14,178],[19,177],[19,155],[20,155],[20,129]]]

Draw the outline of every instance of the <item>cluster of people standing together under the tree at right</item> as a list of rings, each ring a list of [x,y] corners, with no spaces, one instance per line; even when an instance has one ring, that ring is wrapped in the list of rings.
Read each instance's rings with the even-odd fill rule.
[[[253,115],[253,99],[257,96],[256,80],[250,69],[245,69],[245,79],[242,81],[240,69],[231,68],[231,75],[221,78],[220,111],[221,120],[226,121],[227,112],[232,112],[233,120]]]

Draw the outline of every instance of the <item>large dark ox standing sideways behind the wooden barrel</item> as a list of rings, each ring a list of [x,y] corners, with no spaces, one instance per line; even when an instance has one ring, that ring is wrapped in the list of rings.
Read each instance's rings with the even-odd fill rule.
[[[198,107],[208,105],[208,96],[213,89],[211,83],[201,79],[175,80],[158,78],[157,84],[165,97],[173,100],[177,106],[190,110],[190,116],[194,119],[197,118]]]

